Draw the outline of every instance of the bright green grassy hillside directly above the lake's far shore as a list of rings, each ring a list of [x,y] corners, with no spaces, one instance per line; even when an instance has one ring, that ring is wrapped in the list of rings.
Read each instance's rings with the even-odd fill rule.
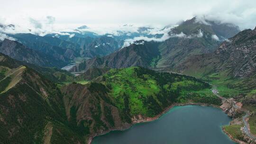
[[[128,110],[131,116],[141,114],[152,117],[174,102],[220,104],[210,93],[208,84],[184,75],[130,67],[112,69],[102,79],[111,89],[110,95],[115,99],[116,106]],[[211,99],[205,101],[205,97]]]

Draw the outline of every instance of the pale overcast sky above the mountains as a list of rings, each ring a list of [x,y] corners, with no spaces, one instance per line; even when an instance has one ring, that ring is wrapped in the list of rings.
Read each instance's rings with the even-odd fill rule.
[[[163,27],[193,16],[256,26],[255,0],[0,0],[0,23],[64,29],[135,24]]]

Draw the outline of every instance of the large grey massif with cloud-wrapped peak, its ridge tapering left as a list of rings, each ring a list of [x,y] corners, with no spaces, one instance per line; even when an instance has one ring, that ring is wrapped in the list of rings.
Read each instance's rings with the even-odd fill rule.
[[[220,29],[228,29],[226,31]],[[113,54],[96,57],[77,64],[70,71],[85,71],[92,67],[122,68],[143,66],[172,70],[188,57],[215,51],[218,45],[235,36],[239,28],[231,24],[218,24],[213,21],[201,23],[192,18],[174,27],[164,42],[137,41]]]

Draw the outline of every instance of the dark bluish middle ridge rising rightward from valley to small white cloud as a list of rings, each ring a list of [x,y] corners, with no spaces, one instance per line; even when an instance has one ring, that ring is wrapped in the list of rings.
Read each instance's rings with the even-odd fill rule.
[[[129,66],[150,67],[152,60],[159,55],[157,46],[159,43],[137,41],[137,43],[122,48],[119,51],[104,56],[85,60],[75,65],[70,72],[82,72],[90,68],[125,68]]]

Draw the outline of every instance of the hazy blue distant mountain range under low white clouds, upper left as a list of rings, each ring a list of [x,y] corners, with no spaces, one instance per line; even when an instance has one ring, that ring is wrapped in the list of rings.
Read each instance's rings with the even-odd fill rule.
[[[2,30],[6,28],[15,29],[15,26],[1,25],[1,28]],[[73,63],[73,61],[81,61],[82,59],[101,57],[114,53],[124,45],[126,39],[132,39],[137,36],[151,38],[163,36],[163,34],[148,34],[148,30],[153,29],[150,27],[138,27],[137,32],[120,30],[118,35],[105,34],[102,36],[87,31],[87,29],[89,27],[81,26],[76,28],[75,32],[61,32],[58,34],[47,34],[46,36],[37,36],[30,33],[4,34],[16,40],[16,44],[20,43],[19,47],[23,47],[24,52],[10,54],[14,47],[11,49],[11,47],[6,45],[2,47],[0,52],[20,61],[40,66],[61,68],[69,63]],[[31,57],[32,55],[34,56]]]

